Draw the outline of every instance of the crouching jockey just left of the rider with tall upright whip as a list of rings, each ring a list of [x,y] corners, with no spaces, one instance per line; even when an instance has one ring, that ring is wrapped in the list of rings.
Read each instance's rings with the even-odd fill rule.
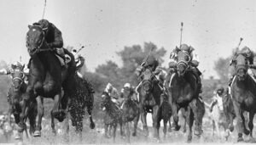
[[[161,71],[160,69],[157,69],[158,65],[159,65],[158,60],[153,55],[148,55],[148,57],[143,60],[143,64],[141,64],[140,66],[137,67],[135,74],[137,75],[138,80],[140,81],[140,83],[136,87],[137,93],[138,93],[138,89],[142,85],[142,81],[143,81],[142,73],[146,69],[149,69],[153,72],[153,74],[155,76],[154,81],[157,81],[158,85],[163,90],[163,84],[161,84],[161,81],[159,80],[160,77],[156,77],[156,75],[160,75],[160,71]]]

